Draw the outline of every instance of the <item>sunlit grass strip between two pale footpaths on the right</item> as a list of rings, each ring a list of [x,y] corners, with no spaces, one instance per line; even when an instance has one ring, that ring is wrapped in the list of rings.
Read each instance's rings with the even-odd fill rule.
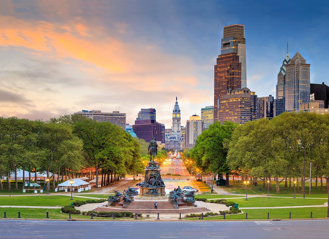
[[[326,199],[297,199],[297,198],[271,198],[271,197],[256,197],[232,199],[235,203],[239,203],[239,207],[279,207],[279,206],[308,206],[308,205],[323,205],[327,202]]]

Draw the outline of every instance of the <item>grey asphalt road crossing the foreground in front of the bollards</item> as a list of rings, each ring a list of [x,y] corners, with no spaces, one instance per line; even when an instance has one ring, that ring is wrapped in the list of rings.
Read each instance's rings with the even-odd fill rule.
[[[328,238],[328,220],[300,221],[37,221],[0,220],[0,238]]]

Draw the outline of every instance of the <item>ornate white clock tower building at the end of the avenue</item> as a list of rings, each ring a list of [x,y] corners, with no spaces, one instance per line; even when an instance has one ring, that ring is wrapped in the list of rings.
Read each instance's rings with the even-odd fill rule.
[[[185,148],[185,139],[181,132],[181,110],[178,105],[177,97],[174,109],[172,110],[171,133],[166,134],[165,147],[177,151]]]

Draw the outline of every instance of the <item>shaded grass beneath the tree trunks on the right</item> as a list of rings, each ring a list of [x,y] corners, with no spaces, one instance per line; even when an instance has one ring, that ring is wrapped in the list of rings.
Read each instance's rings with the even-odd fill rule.
[[[275,181],[271,181],[272,184],[272,191],[269,191],[270,196],[275,196],[275,197],[293,197],[294,195],[294,189],[293,185],[291,185],[291,189],[289,188],[284,188],[284,181],[280,183],[280,193],[276,193],[275,191]],[[289,185],[289,182],[288,182]],[[312,190],[311,190],[311,195],[309,195],[309,189],[310,189],[310,183],[306,182],[305,183],[305,198],[328,198],[328,193],[325,192],[325,182],[323,182],[323,191],[320,191],[320,183],[318,183],[318,189],[315,190],[315,183],[312,182]],[[246,187],[243,184],[243,181],[238,180],[230,180],[230,187],[221,187],[227,192],[230,193],[237,193],[237,194],[245,194],[246,193]],[[259,188],[261,188],[261,191],[259,191]],[[299,182],[299,188],[301,189],[300,182]],[[253,186],[253,185],[248,185],[248,194],[249,195],[267,195],[267,188],[263,188],[263,182],[258,181],[258,186]],[[302,198],[303,194],[300,192],[297,192],[296,188],[296,197],[297,198]]]

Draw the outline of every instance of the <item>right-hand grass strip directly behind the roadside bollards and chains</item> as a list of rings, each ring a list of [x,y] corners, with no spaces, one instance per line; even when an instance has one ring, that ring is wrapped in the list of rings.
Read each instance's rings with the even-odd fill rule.
[[[327,207],[304,207],[304,208],[277,208],[277,209],[244,209],[242,214],[238,215],[226,215],[226,219],[229,220],[244,220],[246,212],[248,213],[248,219],[262,220],[267,219],[267,212],[269,212],[269,218],[288,219],[289,212],[291,212],[291,219],[310,218],[311,211],[313,212],[313,218],[325,218],[327,216]],[[186,220],[198,220],[197,218],[184,218]],[[223,216],[204,217],[205,220],[223,220]]]

